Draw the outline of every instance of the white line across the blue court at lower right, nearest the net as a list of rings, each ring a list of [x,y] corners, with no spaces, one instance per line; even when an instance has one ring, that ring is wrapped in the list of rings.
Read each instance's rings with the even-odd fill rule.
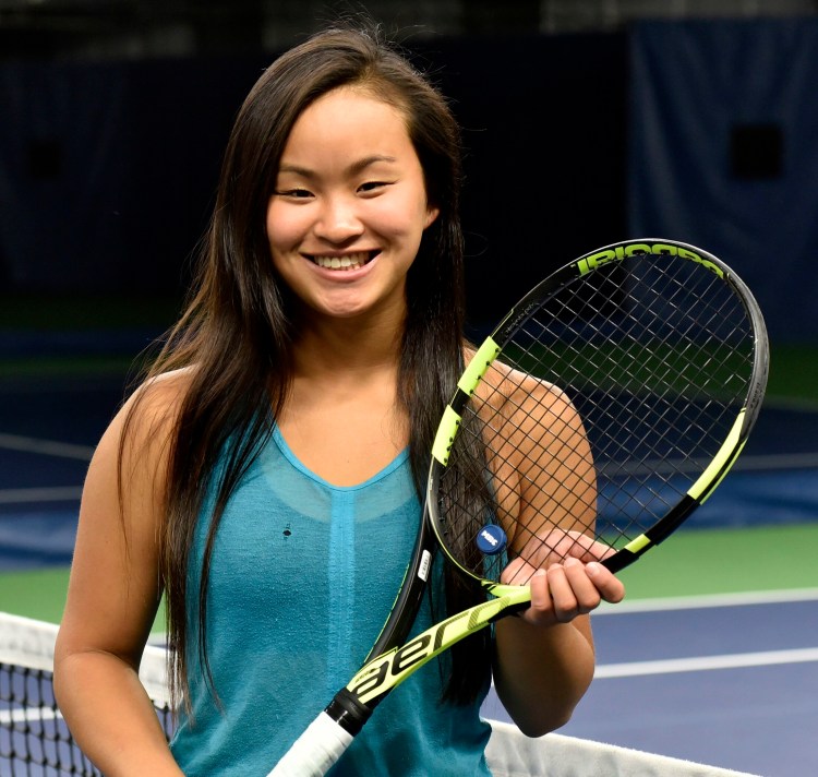
[[[691,658],[667,658],[657,661],[630,661],[602,664],[593,677],[597,680],[634,678],[647,674],[671,674],[675,672],[701,672],[713,669],[742,669],[746,667],[771,667],[782,664],[806,664],[818,661],[818,647],[763,653],[736,653],[723,656],[696,656]]]

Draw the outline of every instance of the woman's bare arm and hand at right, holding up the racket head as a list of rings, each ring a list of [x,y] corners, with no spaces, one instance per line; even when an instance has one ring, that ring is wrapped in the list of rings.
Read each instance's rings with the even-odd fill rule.
[[[542,391],[550,393],[548,401]],[[570,718],[593,678],[588,613],[603,599],[619,601],[625,594],[622,583],[594,563],[608,548],[589,536],[597,491],[581,421],[558,391],[539,394],[531,402],[538,409],[548,406],[545,414],[529,416],[522,405],[530,428],[524,429],[525,457],[510,501],[524,528],[512,539],[520,555],[503,574],[505,583],[530,583],[531,607],[497,623],[494,660],[497,695],[531,737]],[[545,550],[532,553],[529,546]]]

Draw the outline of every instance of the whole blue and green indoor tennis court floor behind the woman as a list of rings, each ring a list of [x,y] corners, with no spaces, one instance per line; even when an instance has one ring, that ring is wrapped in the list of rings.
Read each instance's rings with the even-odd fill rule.
[[[598,677],[561,733],[765,777],[816,773],[818,402],[805,371],[818,361],[796,350],[773,348],[736,470],[622,573],[628,600],[596,617]],[[57,622],[85,468],[127,359],[27,354],[8,355],[0,380],[0,611]],[[484,712],[507,718],[493,696]]]

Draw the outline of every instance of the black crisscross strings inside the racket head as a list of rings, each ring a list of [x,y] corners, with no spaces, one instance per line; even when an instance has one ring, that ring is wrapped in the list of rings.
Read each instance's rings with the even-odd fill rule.
[[[500,345],[438,491],[447,552],[490,579],[649,530],[718,455],[754,366],[742,300],[674,256],[564,284]],[[502,563],[476,550],[490,523],[509,538]]]

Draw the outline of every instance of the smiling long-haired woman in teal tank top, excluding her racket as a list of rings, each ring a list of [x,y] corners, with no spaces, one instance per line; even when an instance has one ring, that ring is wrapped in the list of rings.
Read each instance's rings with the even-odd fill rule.
[[[264,775],[365,657],[470,355],[459,152],[444,99],[374,32],[316,35],[248,96],[191,302],[84,489],[55,688],[108,777]],[[390,694],[333,774],[489,774],[492,669],[525,732],[563,725],[593,672],[587,613],[624,590],[578,559],[531,589]],[[163,594],[170,746],[137,679]],[[437,571],[435,605],[470,598]]]

